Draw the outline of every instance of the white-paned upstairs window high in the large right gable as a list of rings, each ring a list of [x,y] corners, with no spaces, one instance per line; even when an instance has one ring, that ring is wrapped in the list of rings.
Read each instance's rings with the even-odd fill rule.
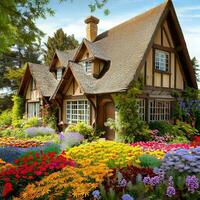
[[[155,50],[155,69],[169,71],[169,53],[166,51]]]

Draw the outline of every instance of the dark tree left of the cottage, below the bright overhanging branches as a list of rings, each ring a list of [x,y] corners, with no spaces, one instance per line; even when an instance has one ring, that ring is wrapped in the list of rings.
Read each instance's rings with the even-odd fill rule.
[[[0,53],[0,112],[12,107],[12,95],[19,88],[25,70],[24,64],[40,63],[40,55],[39,44],[16,46],[9,52]]]

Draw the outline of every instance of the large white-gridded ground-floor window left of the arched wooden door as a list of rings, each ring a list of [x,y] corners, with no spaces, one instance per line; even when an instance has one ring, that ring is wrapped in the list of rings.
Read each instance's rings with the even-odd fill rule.
[[[67,101],[67,124],[83,121],[89,123],[90,105],[87,100]]]

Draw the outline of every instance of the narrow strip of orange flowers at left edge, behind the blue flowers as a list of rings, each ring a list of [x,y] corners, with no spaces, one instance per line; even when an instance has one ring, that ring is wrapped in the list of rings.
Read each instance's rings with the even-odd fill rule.
[[[12,147],[36,147],[44,145],[43,142],[34,141],[34,140],[18,140],[14,137],[0,138],[0,146],[12,146]]]

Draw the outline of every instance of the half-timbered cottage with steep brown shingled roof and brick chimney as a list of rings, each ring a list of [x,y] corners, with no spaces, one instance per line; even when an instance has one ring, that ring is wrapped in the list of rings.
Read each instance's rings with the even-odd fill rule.
[[[38,105],[50,102],[59,107],[59,121],[97,125],[113,139],[104,127],[115,118],[112,94],[127,91],[133,80],[144,79],[139,110],[148,122],[170,120],[173,90],[197,88],[172,1],[101,34],[99,19],[90,16],[85,23],[86,38],[77,49],[56,51],[49,67],[28,64],[19,89],[28,116],[38,116]]]

